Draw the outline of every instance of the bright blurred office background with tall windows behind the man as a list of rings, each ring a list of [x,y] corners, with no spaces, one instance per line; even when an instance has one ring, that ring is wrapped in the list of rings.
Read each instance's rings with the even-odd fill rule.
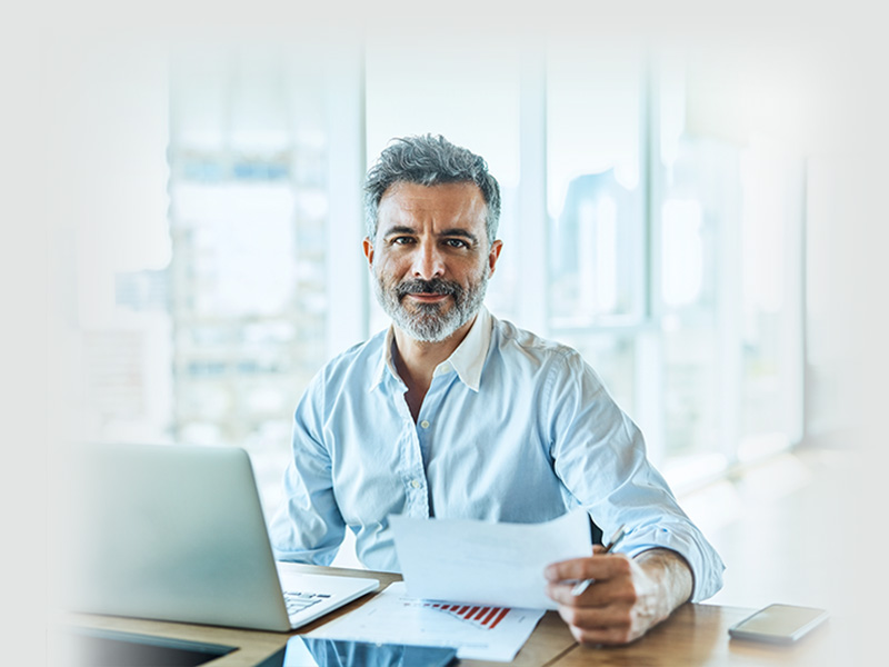
[[[801,60],[608,37],[94,44],[53,130],[74,176],[51,436],[243,447],[272,511],[302,389],[387,326],[363,173],[391,138],[441,133],[502,188],[488,308],[580,350],[641,427],[727,563],[713,601],[842,604],[822,574],[857,462],[848,162]],[[348,542],[334,565],[358,566]]]

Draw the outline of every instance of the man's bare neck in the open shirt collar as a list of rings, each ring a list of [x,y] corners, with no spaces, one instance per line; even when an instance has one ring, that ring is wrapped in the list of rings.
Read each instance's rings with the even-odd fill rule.
[[[476,317],[439,342],[417,340],[397,326],[394,327],[392,361],[399,377],[408,387],[408,406],[414,420],[420,412],[426,392],[432,384],[432,374],[434,374],[438,365],[450,357],[453,350],[460,346],[472,328]]]

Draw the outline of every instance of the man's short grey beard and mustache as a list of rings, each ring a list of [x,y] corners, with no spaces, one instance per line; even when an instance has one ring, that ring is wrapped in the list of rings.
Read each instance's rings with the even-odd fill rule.
[[[468,289],[441,278],[403,280],[394,285],[386,285],[382,276],[376,272],[373,278],[373,292],[386,313],[408,336],[423,342],[440,342],[452,336],[476,316],[488,289],[488,271],[485,270],[478,282],[470,283]],[[421,292],[449,295],[453,303],[447,310],[447,300],[437,303],[413,302],[410,308],[403,305],[407,295]]]

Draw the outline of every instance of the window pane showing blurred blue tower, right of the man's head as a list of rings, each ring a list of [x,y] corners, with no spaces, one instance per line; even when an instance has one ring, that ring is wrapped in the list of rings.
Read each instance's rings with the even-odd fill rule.
[[[638,323],[645,259],[643,61],[627,46],[547,52],[550,328]]]

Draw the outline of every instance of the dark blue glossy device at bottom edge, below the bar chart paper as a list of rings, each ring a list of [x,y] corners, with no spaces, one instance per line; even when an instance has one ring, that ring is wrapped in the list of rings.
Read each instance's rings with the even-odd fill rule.
[[[447,667],[455,663],[456,648],[296,635],[287,641],[283,667]]]

